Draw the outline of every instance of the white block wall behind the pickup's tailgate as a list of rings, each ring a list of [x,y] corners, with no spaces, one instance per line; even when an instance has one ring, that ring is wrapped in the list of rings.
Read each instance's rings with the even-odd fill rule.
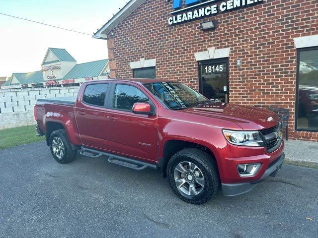
[[[35,124],[33,107],[39,98],[76,96],[79,87],[0,90],[0,129]]]

